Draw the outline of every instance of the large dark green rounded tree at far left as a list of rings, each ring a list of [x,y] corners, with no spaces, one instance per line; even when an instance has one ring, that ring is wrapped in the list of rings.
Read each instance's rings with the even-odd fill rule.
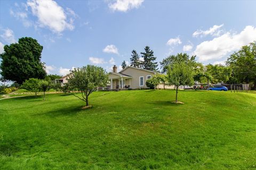
[[[46,76],[44,63],[41,62],[43,46],[37,40],[24,37],[18,43],[4,46],[0,55],[0,69],[5,80],[22,84],[29,78],[44,79]]]

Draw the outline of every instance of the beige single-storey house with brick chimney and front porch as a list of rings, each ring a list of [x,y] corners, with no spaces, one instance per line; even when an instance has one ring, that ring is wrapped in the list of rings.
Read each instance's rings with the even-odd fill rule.
[[[147,88],[146,81],[156,74],[156,71],[127,66],[117,72],[117,66],[113,66],[113,72],[109,73],[110,89],[142,89]]]

